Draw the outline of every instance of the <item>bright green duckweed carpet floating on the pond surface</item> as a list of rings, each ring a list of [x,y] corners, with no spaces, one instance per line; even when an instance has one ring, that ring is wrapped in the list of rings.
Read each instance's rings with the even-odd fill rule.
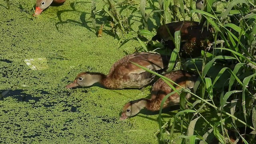
[[[74,1],[50,6],[38,18],[32,17],[29,1],[12,0],[10,10],[1,8],[6,3],[0,2],[0,143],[159,143],[157,114],[119,120],[123,105],[149,96],[150,86],[142,90],[64,88],[83,71],[107,74],[116,60],[140,46],[130,40],[118,48],[107,26],[103,37],[97,38],[90,1],[77,2],[76,10],[71,7]],[[140,14],[134,15],[136,31],[142,23]],[[97,18],[98,25],[106,20]],[[45,58],[39,63],[44,68],[32,70],[24,62],[37,58]],[[175,114],[162,114],[163,123]],[[168,134],[164,137],[168,140]]]

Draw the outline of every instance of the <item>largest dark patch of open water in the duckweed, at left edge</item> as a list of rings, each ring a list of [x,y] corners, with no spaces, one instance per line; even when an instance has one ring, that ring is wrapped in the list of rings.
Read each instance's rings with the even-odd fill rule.
[[[0,100],[7,97],[13,97],[22,102],[29,102],[29,100],[35,100],[35,102],[38,102],[40,98],[42,98],[32,97],[30,94],[26,94],[25,90],[0,90]]]

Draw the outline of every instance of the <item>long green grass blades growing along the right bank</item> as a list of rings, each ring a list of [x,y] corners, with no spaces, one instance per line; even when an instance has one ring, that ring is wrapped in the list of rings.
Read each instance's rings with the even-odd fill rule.
[[[138,35],[144,35],[151,38],[152,32],[148,28],[148,18],[152,13],[158,13],[163,24],[174,20],[195,19],[196,14],[200,14],[201,23],[212,25],[214,28],[213,51],[202,52],[201,58],[190,58],[186,61],[179,60],[180,51],[180,32],[177,31],[174,36],[176,48],[172,51],[169,70],[186,69],[197,72],[199,78],[194,85],[193,92],[182,89],[177,91],[172,86],[172,80],[161,76],[155,72],[141,68],[156,74],[169,84],[174,92],[180,93],[180,111],[174,116],[174,122],[171,126],[163,126],[161,119],[162,106],[164,101],[171,94],[166,95],[161,103],[159,112],[159,130],[162,141],[164,142],[163,130],[170,133],[169,142],[172,142],[174,129],[179,130],[182,143],[200,144],[211,141],[210,135],[213,135],[220,143],[225,144],[230,129],[236,130],[235,133],[240,136],[245,143],[253,143],[255,134],[250,134],[252,139],[243,138],[241,132],[237,129],[256,129],[256,8],[255,0],[206,0],[202,10],[195,10],[192,7],[193,0],[158,0],[159,7],[146,14],[146,0],[140,0],[140,13],[144,28],[138,32],[128,32],[129,26],[124,26],[124,17],[118,14],[114,4],[110,0],[104,0],[105,12],[112,17],[115,26],[118,26],[123,32],[124,40],[127,35],[137,34],[137,40],[142,46],[142,50],[149,51],[146,45]],[[185,5],[184,5],[185,4]],[[189,5],[187,5],[189,4]],[[130,7],[129,7],[130,8]],[[179,15],[173,17],[173,14]],[[130,15],[127,15],[128,18]],[[124,30],[126,29],[126,30]],[[218,45],[219,41],[223,45]],[[149,42],[150,40],[148,40]],[[138,66],[138,65],[137,65]],[[193,103],[188,103],[189,109],[184,106],[184,92],[190,93],[194,97]],[[206,116],[205,107],[210,108],[213,117]],[[198,122],[207,125],[208,129],[195,129]],[[180,124],[180,128],[175,127],[175,123]],[[166,122],[168,124],[168,122]],[[229,139],[229,138],[228,138]]]

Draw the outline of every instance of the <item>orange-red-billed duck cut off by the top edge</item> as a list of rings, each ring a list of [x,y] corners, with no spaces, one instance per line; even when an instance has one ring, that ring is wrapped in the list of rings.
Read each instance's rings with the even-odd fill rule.
[[[36,10],[34,16],[42,13],[42,11],[50,6],[52,2],[55,4],[63,4],[66,0],[36,0]]]

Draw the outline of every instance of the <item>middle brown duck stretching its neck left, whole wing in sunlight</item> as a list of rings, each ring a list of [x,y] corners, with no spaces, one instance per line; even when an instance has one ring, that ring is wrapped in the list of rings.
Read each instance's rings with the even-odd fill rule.
[[[107,89],[143,88],[149,85],[155,75],[139,68],[132,62],[158,73],[167,70],[170,56],[151,52],[138,52],[124,56],[115,62],[108,75],[99,72],[82,72],[66,88],[89,87],[100,83]]]

